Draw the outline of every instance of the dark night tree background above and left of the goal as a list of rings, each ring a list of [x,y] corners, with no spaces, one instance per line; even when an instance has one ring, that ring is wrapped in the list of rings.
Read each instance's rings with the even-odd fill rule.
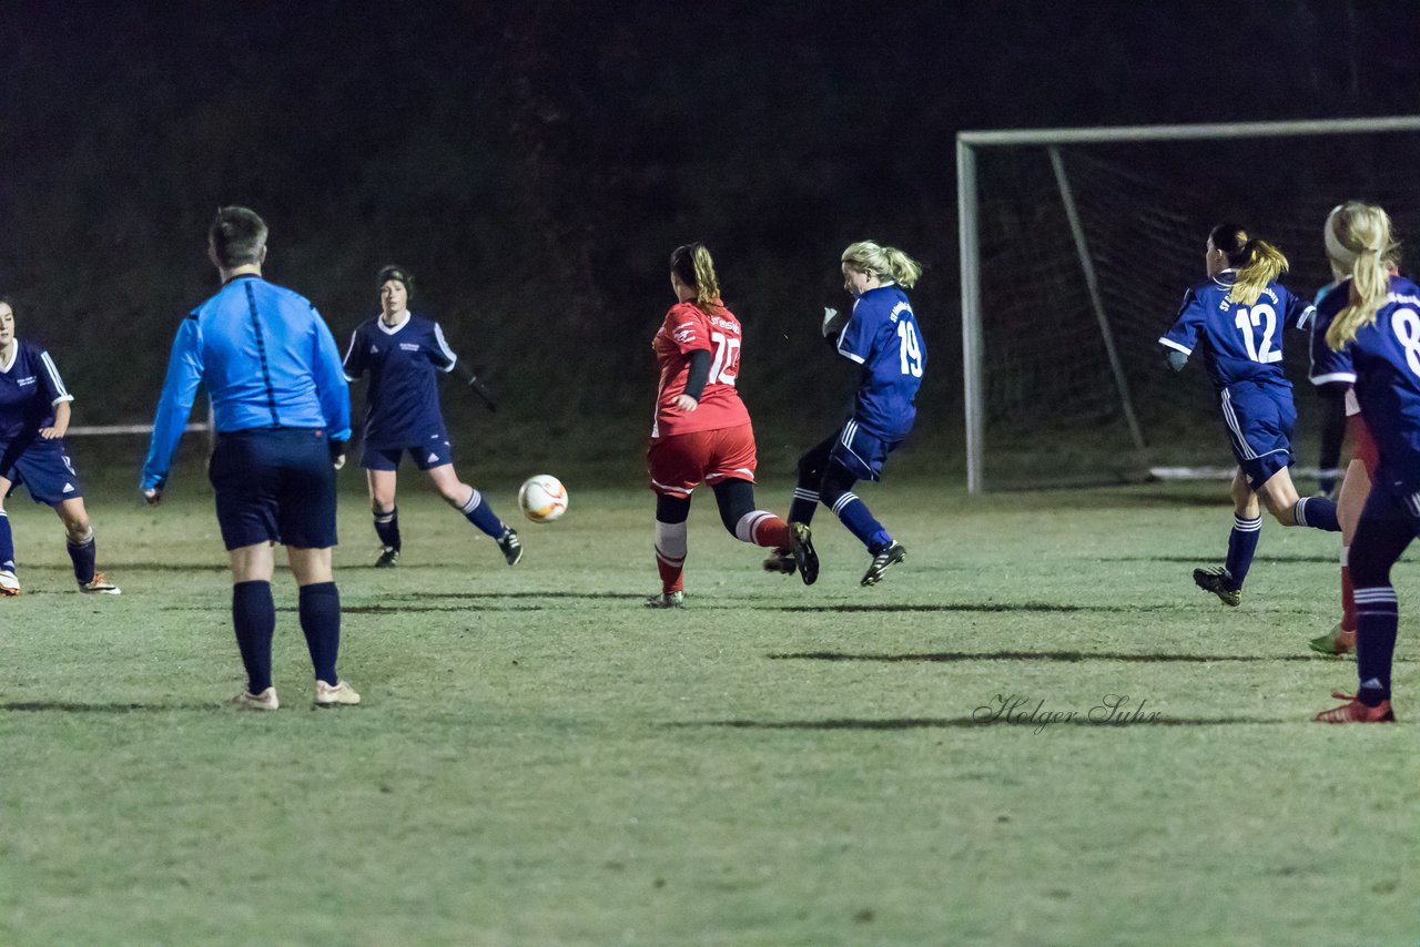
[[[11,0],[0,37],[0,294],[78,419],[149,415],[213,288],[206,224],[241,203],[271,226],[267,275],[342,342],[381,264],[415,271],[415,308],[504,396],[493,419],[444,392],[494,460],[635,461],[666,258],[699,239],[782,466],[852,389],[816,321],[863,237],[926,264],[917,459],[950,457],[957,131],[1420,111],[1417,17],[1356,0]]]

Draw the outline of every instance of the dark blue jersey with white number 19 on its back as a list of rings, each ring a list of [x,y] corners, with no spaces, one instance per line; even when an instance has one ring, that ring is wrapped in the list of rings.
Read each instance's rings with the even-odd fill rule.
[[[853,301],[838,354],[862,365],[853,420],[885,440],[906,437],[917,416],[927,346],[900,285],[878,287]]]

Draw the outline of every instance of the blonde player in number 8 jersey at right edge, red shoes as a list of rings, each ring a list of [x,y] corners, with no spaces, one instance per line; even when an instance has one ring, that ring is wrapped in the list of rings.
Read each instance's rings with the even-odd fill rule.
[[[1328,220],[1326,248],[1350,277],[1318,305],[1316,331],[1340,354],[1332,373],[1355,381],[1379,459],[1349,554],[1360,687],[1332,694],[1346,703],[1315,718],[1389,723],[1400,620],[1390,568],[1420,534],[1420,287],[1390,271],[1390,217],[1380,207],[1343,204]]]

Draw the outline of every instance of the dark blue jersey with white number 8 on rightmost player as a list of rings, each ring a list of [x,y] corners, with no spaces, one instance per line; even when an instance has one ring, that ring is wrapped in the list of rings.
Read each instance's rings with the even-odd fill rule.
[[[1346,307],[1350,281],[1316,311],[1318,331]],[[1390,277],[1390,294],[1376,318],[1346,346],[1360,416],[1380,451],[1377,478],[1402,493],[1420,491],[1420,287]]]

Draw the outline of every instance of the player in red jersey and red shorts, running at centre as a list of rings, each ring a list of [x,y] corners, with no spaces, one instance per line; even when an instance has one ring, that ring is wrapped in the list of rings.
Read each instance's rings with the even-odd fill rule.
[[[720,301],[710,251],[699,243],[670,254],[676,305],[652,339],[660,365],[656,420],[646,466],[656,491],[656,568],[660,595],[650,608],[684,602],[686,518],[690,491],[714,490],[724,528],[741,542],[788,547],[804,582],[818,575],[809,528],[754,505],[754,429],[734,382],[740,373],[740,321]]]

